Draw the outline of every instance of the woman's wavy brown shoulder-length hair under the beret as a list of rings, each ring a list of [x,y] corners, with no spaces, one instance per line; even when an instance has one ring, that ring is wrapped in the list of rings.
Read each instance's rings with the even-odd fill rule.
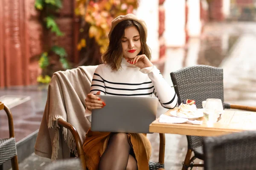
[[[122,62],[122,43],[121,39],[125,34],[125,29],[135,26],[140,34],[141,51],[138,55],[145,54],[151,60],[151,51],[146,43],[146,34],[143,27],[134,20],[124,20],[118,23],[113,29],[107,51],[102,54],[102,62],[111,65],[112,70],[118,70]]]

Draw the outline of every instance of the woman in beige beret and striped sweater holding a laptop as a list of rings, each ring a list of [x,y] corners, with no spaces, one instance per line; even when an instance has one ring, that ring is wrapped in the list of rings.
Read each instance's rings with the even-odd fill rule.
[[[150,62],[147,27],[134,14],[112,21],[104,64],[93,75],[90,94],[85,99],[86,116],[106,104],[97,95],[152,96],[164,108],[177,105],[175,91]],[[132,107],[132,106],[131,106]],[[145,134],[105,133],[88,130],[83,144],[89,170],[148,170],[151,145]]]

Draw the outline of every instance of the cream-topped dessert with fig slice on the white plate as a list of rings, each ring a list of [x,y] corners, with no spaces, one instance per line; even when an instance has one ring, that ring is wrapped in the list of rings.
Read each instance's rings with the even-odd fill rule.
[[[196,112],[197,108],[195,105],[195,100],[186,99],[179,105],[177,116],[189,118],[195,116]]]

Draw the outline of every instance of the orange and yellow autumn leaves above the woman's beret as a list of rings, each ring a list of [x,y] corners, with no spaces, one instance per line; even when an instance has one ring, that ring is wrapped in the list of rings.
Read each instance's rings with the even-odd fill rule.
[[[89,37],[94,38],[103,54],[108,47],[108,32],[111,21],[119,16],[132,13],[138,6],[138,0],[77,0],[76,15],[84,18],[90,24]],[[81,39],[77,49],[86,46],[86,40]]]

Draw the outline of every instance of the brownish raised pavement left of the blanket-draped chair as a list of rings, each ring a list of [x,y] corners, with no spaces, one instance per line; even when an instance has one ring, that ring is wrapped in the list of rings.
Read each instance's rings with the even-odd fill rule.
[[[27,102],[10,108],[14,121],[16,142],[19,142],[24,137],[38,130],[47,98],[47,89],[45,86],[28,86],[0,89],[0,96],[29,96],[29,100]],[[7,120],[8,119],[4,111],[0,111],[1,138],[9,137],[9,127]]]

